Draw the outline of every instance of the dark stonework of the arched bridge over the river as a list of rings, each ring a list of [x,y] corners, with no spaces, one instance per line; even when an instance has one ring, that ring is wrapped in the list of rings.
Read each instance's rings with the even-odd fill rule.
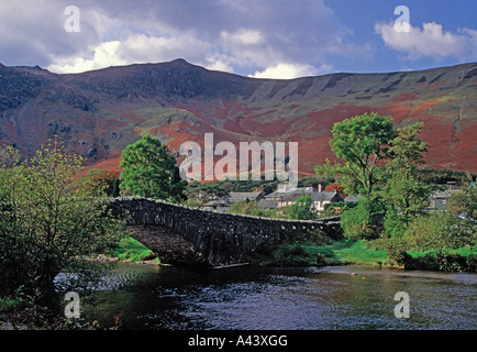
[[[269,219],[188,208],[140,197],[111,200],[113,215],[127,226],[154,226],[179,233],[212,266],[242,263],[257,251],[304,237],[341,238],[340,218],[313,221]]]

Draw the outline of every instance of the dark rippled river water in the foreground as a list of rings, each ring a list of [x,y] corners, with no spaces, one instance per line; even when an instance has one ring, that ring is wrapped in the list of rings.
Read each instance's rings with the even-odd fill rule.
[[[477,275],[363,266],[193,271],[119,264],[81,318],[122,329],[395,330],[477,328]],[[409,318],[397,318],[398,292]],[[402,310],[400,310],[402,311]]]

